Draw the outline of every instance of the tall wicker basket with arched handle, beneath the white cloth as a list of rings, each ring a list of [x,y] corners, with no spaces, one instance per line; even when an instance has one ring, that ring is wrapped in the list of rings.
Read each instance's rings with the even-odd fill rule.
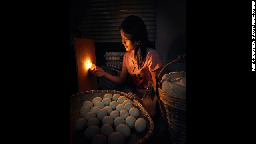
[[[158,81],[162,80],[166,68],[176,62],[180,62],[180,57],[162,68]],[[159,86],[157,84],[157,100],[164,124],[168,127],[171,142],[172,144],[186,144],[186,98],[171,95]]]

